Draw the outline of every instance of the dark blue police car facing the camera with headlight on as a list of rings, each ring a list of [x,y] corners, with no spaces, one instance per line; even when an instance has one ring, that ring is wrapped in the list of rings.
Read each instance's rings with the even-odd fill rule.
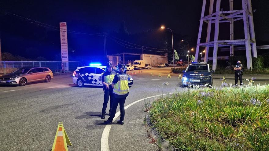
[[[192,62],[186,70],[183,71],[182,86],[213,84],[213,75],[206,62]]]

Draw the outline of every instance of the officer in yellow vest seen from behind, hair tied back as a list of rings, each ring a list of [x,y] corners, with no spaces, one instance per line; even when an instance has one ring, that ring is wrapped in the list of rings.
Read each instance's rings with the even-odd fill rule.
[[[117,74],[114,77],[114,80],[112,81],[113,85],[113,93],[114,93],[114,99],[113,99],[113,106],[112,106],[112,112],[110,117],[107,121],[105,121],[105,124],[112,124],[112,120],[115,117],[116,109],[118,107],[118,104],[120,103],[120,120],[118,120],[118,124],[124,124],[124,103],[126,100],[126,97],[129,95],[129,86],[128,86],[128,80],[129,76],[124,73],[124,65],[119,64],[119,70],[120,73]]]

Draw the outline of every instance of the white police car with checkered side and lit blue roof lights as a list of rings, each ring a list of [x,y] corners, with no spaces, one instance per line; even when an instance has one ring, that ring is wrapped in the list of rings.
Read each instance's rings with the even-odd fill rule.
[[[103,86],[102,84],[102,76],[105,73],[106,66],[101,66],[99,64],[85,67],[77,67],[77,69],[73,73],[73,83],[77,84],[78,87],[83,87],[84,85],[91,86]],[[117,74],[118,70],[113,69]],[[128,85],[133,84],[133,79],[130,75]]]

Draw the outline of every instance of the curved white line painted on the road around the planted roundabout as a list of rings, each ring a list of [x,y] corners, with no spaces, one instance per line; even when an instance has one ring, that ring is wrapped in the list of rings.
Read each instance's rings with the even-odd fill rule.
[[[154,96],[150,96],[150,97],[147,97],[147,98],[144,98],[144,99],[137,100],[137,101],[132,102],[131,104],[125,106],[124,110],[126,110],[128,107],[134,105],[135,103],[143,101],[145,99],[149,99],[149,98],[153,98],[153,97],[157,97],[157,96],[161,96],[161,95],[168,95],[168,94],[172,94],[172,93],[154,95]],[[120,115],[120,111],[118,111],[115,114],[115,117],[113,118],[112,122],[114,122],[118,118],[119,115]],[[103,134],[102,134],[102,137],[101,137],[101,151],[109,151],[108,139],[109,139],[109,131],[110,131],[111,127],[112,127],[112,125],[106,125],[105,128],[104,128],[104,131],[103,131]]]

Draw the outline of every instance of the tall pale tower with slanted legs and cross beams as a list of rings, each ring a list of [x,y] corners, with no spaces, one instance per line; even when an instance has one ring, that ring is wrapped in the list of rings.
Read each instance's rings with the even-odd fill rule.
[[[230,46],[230,56],[234,56],[234,46],[245,45],[247,67],[248,69],[252,68],[251,47],[252,47],[253,57],[257,57],[257,49],[256,49],[251,0],[242,0],[241,10],[234,10],[234,2],[233,0],[229,0],[230,10],[227,10],[227,11],[223,11],[220,9],[221,0],[215,0],[216,1],[215,13],[213,13],[214,0],[210,0],[209,14],[207,16],[204,16],[205,5],[207,1],[208,0],[203,0],[201,20],[200,20],[200,26],[199,26],[199,34],[197,38],[197,47],[196,47],[196,53],[195,53],[195,61],[198,60],[200,46],[205,47],[205,57],[204,57],[205,61],[208,60],[209,47],[214,47],[212,70],[216,70],[218,47]],[[234,22],[238,20],[243,20],[245,39],[234,39]],[[206,35],[206,42],[200,43],[203,22],[207,23],[207,35]],[[219,23],[227,23],[227,22],[230,23],[230,39],[219,40]],[[212,23],[215,23],[214,41],[210,41]]]

